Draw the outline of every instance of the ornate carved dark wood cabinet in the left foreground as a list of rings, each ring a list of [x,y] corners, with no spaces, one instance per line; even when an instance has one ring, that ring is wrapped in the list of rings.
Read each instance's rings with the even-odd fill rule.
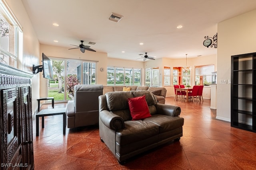
[[[0,63],[0,167],[34,169],[31,78]]]

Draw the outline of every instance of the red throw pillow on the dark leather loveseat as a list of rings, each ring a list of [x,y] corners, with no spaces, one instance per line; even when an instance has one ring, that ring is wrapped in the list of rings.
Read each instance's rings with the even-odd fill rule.
[[[128,98],[128,104],[132,120],[140,120],[151,116],[145,95],[136,98]]]

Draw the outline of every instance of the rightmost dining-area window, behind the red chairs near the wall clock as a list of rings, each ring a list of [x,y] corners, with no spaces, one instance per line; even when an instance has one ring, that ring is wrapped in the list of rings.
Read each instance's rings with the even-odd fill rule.
[[[210,86],[212,72],[214,72],[214,65],[196,66],[196,85]]]

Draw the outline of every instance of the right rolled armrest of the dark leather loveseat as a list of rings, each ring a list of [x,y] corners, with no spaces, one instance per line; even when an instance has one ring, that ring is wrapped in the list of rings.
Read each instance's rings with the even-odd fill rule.
[[[157,104],[156,110],[158,114],[161,115],[170,115],[170,116],[179,116],[181,109],[179,106],[172,106],[166,104]]]

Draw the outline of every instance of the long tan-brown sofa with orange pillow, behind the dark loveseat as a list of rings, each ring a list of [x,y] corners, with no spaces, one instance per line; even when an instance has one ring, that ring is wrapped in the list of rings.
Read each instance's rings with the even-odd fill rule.
[[[107,92],[120,92],[124,87],[130,87],[130,90],[148,90],[156,96],[156,100],[160,104],[165,104],[166,88],[164,87],[148,87],[148,86],[103,86],[103,94]],[[161,90],[161,92],[158,92]]]

